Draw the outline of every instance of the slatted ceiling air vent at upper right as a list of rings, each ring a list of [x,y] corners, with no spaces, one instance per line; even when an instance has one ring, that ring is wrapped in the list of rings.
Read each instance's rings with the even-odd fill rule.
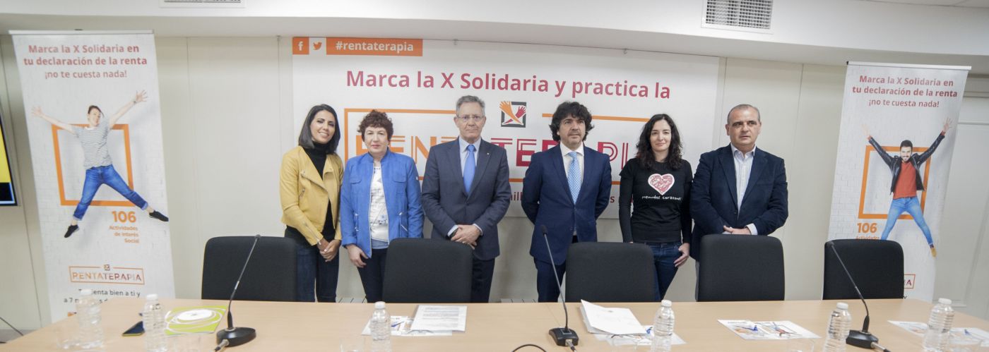
[[[772,0],[707,0],[701,27],[768,33]]]

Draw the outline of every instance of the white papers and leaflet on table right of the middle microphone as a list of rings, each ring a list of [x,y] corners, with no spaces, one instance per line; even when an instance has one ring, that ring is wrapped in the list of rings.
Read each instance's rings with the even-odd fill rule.
[[[628,308],[604,308],[582,300],[581,312],[587,332],[598,341],[608,341],[613,346],[649,346],[653,342],[652,325],[640,323]],[[686,341],[674,333],[672,343],[682,345]]]

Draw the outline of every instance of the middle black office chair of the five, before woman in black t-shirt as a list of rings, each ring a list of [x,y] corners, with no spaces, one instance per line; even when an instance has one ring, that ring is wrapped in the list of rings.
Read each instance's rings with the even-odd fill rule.
[[[567,252],[567,302],[653,302],[656,266],[642,243],[580,242]]]

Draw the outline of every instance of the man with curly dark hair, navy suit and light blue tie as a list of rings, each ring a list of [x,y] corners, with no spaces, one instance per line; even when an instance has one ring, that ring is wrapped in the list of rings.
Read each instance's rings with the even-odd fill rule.
[[[553,140],[560,143],[532,154],[522,180],[522,210],[535,224],[529,254],[536,263],[539,302],[560,297],[556,276],[567,271],[567,249],[571,243],[597,241],[597,217],[608,206],[611,163],[607,155],[584,146],[591,129],[587,108],[560,104],[550,123]]]

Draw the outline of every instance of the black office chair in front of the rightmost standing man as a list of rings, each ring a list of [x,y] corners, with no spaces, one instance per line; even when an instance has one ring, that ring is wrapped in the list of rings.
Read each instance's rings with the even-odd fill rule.
[[[697,301],[782,301],[783,245],[776,237],[708,234],[700,240]]]

